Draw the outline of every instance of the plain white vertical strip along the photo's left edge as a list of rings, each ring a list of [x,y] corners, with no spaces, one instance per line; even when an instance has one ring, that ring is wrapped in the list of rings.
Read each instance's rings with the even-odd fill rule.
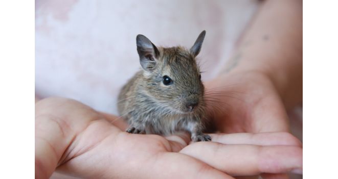
[[[0,178],[34,178],[34,1],[0,1]]]

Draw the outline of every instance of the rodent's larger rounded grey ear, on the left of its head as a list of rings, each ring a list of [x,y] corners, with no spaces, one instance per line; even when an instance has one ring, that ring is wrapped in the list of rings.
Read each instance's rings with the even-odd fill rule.
[[[146,36],[141,34],[136,36],[136,45],[142,68],[151,72],[156,65],[157,58],[159,58],[159,50]]]

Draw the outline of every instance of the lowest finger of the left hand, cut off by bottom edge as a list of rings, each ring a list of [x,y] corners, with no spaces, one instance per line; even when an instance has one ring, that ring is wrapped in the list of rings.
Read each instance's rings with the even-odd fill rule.
[[[145,178],[233,178],[192,157],[163,152],[149,161]]]

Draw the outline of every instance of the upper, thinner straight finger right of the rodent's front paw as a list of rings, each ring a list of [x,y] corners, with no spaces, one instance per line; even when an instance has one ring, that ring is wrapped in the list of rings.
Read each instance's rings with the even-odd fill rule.
[[[252,144],[252,145],[292,145],[301,147],[302,143],[295,136],[287,132],[276,133],[233,133],[209,134],[213,142],[223,144]]]

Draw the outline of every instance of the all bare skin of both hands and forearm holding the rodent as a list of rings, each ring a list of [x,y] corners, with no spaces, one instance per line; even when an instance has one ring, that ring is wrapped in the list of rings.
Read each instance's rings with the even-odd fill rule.
[[[47,98],[35,106],[36,178],[55,170],[85,178],[301,173],[302,144],[288,133],[286,114],[302,100],[301,8],[300,1],[264,2],[231,62],[206,83],[216,129],[239,134],[211,134],[212,142],[190,145],[187,134],[127,134],[116,116]]]

